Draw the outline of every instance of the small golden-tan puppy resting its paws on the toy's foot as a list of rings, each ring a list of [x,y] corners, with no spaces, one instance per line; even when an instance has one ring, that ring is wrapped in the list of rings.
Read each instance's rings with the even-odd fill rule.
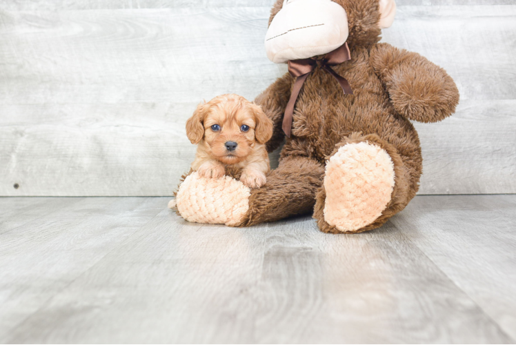
[[[197,145],[191,168],[202,177],[222,177],[241,168],[240,181],[250,188],[266,183],[270,170],[265,143],[272,121],[261,108],[239,95],[221,95],[201,103],[186,121],[186,134]]]

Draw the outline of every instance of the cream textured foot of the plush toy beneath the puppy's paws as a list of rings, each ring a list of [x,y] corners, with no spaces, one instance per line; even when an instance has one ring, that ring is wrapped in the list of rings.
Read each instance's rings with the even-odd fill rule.
[[[249,209],[249,196],[250,189],[232,177],[212,179],[193,172],[179,186],[175,200],[188,221],[237,226]]]

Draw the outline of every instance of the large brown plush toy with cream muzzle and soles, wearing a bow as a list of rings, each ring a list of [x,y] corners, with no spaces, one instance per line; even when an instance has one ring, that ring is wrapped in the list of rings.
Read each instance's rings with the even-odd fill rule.
[[[255,189],[194,172],[179,186],[178,213],[251,226],[313,212],[321,231],[360,233],[403,210],[422,163],[409,120],[450,116],[459,92],[424,57],[378,43],[394,12],[393,0],[277,0],[266,50],[289,73],[255,103],[274,123],[268,151],[286,137],[279,167]]]

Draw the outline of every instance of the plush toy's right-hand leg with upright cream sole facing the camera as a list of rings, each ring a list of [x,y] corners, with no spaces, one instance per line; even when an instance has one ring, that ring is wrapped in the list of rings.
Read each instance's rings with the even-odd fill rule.
[[[326,233],[378,228],[415,195],[409,182],[394,146],[377,135],[355,133],[338,145],[326,164],[314,217]]]

